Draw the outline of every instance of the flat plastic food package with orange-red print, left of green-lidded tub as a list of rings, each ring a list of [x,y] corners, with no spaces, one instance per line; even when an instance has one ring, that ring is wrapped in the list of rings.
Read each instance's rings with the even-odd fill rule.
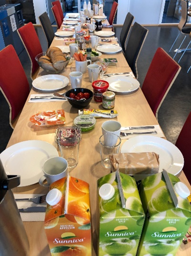
[[[36,126],[58,126],[65,124],[64,110],[49,110],[38,112],[30,117],[30,121]]]

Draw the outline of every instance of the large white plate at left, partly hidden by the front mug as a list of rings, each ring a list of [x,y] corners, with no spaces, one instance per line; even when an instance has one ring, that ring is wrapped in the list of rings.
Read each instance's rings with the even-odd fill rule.
[[[45,141],[23,141],[5,149],[1,155],[6,174],[20,175],[20,185],[39,182],[42,165],[50,157],[58,156],[56,148]]]

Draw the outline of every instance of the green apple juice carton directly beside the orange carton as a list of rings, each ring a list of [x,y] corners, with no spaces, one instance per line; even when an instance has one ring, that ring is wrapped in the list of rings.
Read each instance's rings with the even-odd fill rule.
[[[98,180],[99,256],[136,255],[144,210],[135,179],[117,170]]]

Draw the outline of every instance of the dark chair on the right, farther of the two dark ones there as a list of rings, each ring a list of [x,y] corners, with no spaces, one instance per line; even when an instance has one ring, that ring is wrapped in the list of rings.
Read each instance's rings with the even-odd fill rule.
[[[130,27],[133,23],[133,20],[134,20],[134,16],[131,15],[130,12],[128,12],[120,33],[120,44],[123,49],[123,52],[126,51],[126,40],[130,31]]]

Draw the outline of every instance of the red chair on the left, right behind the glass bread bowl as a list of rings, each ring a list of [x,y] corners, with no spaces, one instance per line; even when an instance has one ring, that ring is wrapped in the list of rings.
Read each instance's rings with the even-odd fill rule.
[[[32,22],[20,27],[17,32],[31,60],[31,78],[34,80],[39,71],[39,64],[36,62],[35,57],[42,52],[40,40]]]

